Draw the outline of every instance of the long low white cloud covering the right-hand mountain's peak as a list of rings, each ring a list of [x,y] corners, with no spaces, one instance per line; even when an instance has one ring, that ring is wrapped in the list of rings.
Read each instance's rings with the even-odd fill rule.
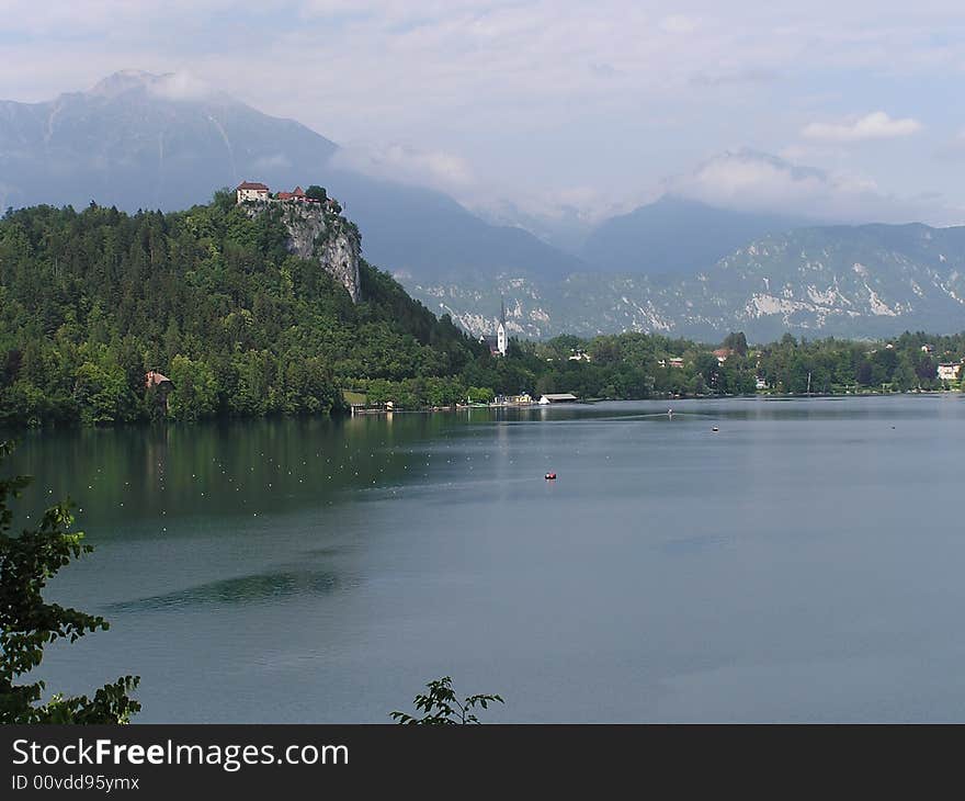
[[[666,182],[671,194],[709,205],[835,223],[962,219],[941,196],[896,198],[867,178],[792,163],[753,150],[726,151]]]

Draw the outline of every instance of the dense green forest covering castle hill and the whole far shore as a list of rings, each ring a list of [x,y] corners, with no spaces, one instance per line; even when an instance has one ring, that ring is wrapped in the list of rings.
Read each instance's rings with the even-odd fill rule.
[[[583,398],[841,393],[942,386],[965,336],[906,332],[726,349],[628,332],[510,341],[507,357],[361,263],[362,302],[292,256],[284,225],[234,194],[184,212],[96,205],[0,221],[0,424],[327,414],[344,392],[422,408],[495,394]],[[720,358],[723,357],[723,358]],[[171,380],[148,386],[147,371]],[[947,382],[945,382],[947,386]],[[957,383],[953,386],[957,388]]]

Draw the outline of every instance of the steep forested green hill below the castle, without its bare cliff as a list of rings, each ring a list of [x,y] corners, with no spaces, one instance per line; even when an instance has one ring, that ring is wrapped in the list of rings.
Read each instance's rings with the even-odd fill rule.
[[[0,422],[313,414],[373,379],[425,379],[451,403],[480,354],[386,273],[362,301],[292,256],[279,214],[209,205],[127,215],[36,206],[0,221]]]

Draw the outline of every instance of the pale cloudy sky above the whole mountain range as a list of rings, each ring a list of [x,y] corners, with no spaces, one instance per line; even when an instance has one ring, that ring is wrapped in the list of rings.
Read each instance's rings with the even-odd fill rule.
[[[492,217],[965,223],[958,0],[0,0],[0,98],[175,72]]]

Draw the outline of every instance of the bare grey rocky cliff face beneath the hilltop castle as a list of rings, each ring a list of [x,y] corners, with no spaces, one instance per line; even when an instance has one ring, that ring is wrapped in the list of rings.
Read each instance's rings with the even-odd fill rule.
[[[359,253],[362,249],[359,229],[339,215],[338,205],[297,201],[247,202],[249,216],[271,211],[279,214],[288,230],[288,251],[317,261],[319,267],[349,292],[353,303],[362,300],[359,278]]]

